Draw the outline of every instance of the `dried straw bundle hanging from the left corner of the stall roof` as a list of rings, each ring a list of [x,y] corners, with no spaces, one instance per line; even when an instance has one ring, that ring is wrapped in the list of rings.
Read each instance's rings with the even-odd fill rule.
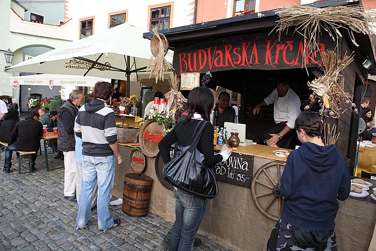
[[[162,37],[160,36],[162,34],[159,34],[155,29],[152,29],[152,32],[154,34],[154,40],[157,39],[159,43],[153,43],[150,45],[150,49],[155,58],[150,58],[146,70],[150,71],[149,78],[151,78],[151,76],[153,75],[155,77],[155,83],[157,83],[158,80],[163,80],[164,73],[166,71],[170,71],[171,69],[173,69],[173,67],[164,58],[168,51],[168,44],[166,44],[165,42],[166,40],[162,39]]]

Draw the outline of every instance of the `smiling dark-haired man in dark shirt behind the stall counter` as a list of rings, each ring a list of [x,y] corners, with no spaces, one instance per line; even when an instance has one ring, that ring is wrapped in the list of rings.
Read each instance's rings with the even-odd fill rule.
[[[235,121],[235,110],[230,105],[230,94],[223,91],[218,96],[218,103],[215,110],[218,111],[217,126],[224,127],[225,122]]]

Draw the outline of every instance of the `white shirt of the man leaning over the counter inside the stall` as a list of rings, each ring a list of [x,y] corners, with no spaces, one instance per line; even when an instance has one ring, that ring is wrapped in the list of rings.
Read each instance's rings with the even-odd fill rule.
[[[300,98],[289,89],[284,97],[278,97],[277,88],[264,98],[266,105],[274,103],[274,121],[279,123],[287,121],[287,126],[291,129],[295,127],[295,119],[300,114]]]

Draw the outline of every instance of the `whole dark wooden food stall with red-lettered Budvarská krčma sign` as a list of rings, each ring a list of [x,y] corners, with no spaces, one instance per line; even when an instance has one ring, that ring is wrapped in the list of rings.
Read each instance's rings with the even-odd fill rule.
[[[330,0],[314,3],[313,7],[353,5],[358,1]],[[261,110],[261,116],[252,115],[253,107],[266,97],[281,77],[302,102],[312,93],[307,82],[322,75],[319,69],[320,52],[336,50],[343,57],[354,52],[354,61],[341,72],[341,86],[359,106],[361,85],[367,73],[376,74],[376,65],[368,71],[362,67],[365,57],[374,61],[369,37],[355,33],[359,43],[355,47],[348,33],[342,32],[338,41],[322,33],[318,51],[304,47],[304,38],[293,29],[281,37],[273,32],[277,12],[267,11],[199,25],[160,31],[170,48],[174,49],[173,67],[176,73],[210,71],[213,80],[208,87],[221,86],[241,93],[240,122],[247,124],[246,138],[260,143],[260,132],[273,123],[273,108]],[[145,33],[145,38],[151,38]],[[305,66],[302,65],[305,62]],[[358,116],[346,111],[337,121],[340,138],[337,148],[353,172]],[[140,135],[142,137],[142,135]],[[151,137],[153,138],[153,137]],[[155,138],[155,137],[154,137]],[[129,155],[137,145],[123,145],[121,152]],[[142,147],[141,147],[142,148]],[[279,182],[285,158],[275,156],[275,148],[260,144],[239,147],[225,163],[215,167],[219,195],[209,200],[199,230],[215,241],[235,250],[264,250],[270,232],[280,216],[282,201],[271,194],[271,187]],[[147,157],[145,175],[154,182],[149,200],[149,211],[169,222],[174,221],[174,199],[170,186],[160,178],[162,162],[159,156]],[[116,166],[113,195],[122,197],[123,177],[131,172],[125,163]],[[158,182],[159,181],[159,182]],[[376,185],[375,181],[371,181]],[[339,202],[336,217],[338,250],[367,250],[376,222],[376,201],[369,196],[348,198]]]

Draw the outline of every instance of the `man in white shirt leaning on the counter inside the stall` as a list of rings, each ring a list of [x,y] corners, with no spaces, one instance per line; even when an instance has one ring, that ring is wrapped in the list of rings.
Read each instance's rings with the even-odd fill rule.
[[[290,84],[280,80],[272,93],[253,108],[253,114],[258,114],[261,106],[274,103],[275,126],[266,129],[262,134],[263,143],[280,148],[288,148],[295,135],[295,119],[300,114],[300,99],[290,89]]]

